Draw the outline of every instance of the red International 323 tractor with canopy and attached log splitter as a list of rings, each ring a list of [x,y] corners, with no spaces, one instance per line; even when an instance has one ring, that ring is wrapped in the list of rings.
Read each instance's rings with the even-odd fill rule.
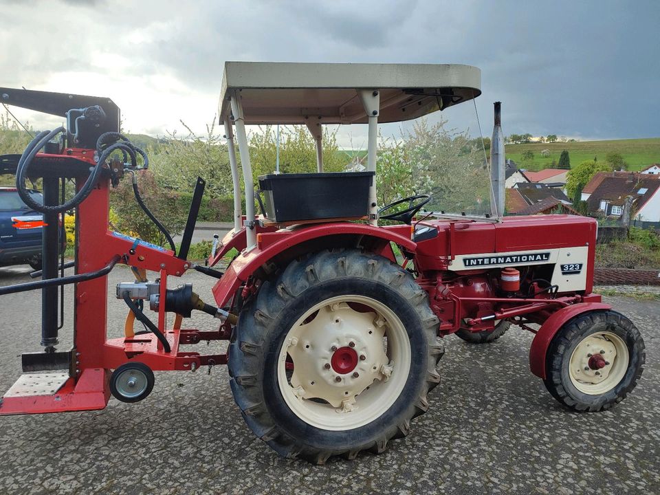
[[[126,173],[135,184],[148,166],[118,133],[111,100],[0,89],[7,104],[68,122],[38,135],[21,157],[1,161],[4,172],[17,174],[26,202],[25,177],[44,177],[43,205],[28,203],[47,225],[43,280],[1,287],[0,295],[42,290],[45,352],[24,354],[23,369],[50,373],[23,375],[0,414],[100,409],[110,395],[139,401],[151,392],[155,370],[228,364],[245,421],[279,454],[316,463],[353,458],[382,452],[426,412],[440,381],[441,337],[492,342],[510,325],[536,334],[531,371],[564,406],[599,411],[624,399],[641,375],[644,344],[635,325],[592,292],[595,220],[420,213],[426,195],[377,206],[377,124],[444,110],[476,98],[480,87],[481,72],[465,65],[227,63],[220,111],[234,229],[209,259],[213,266],[238,250],[224,272],[186,260],[202,179],[178,253],[173,243],[165,249],[108,230],[109,187]],[[318,173],[266,175],[255,194],[245,125],[275,123],[307,124],[318,143]],[[369,126],[366,171],[324,173],[322,124],[349,123]],[[67,177],[76,180],[76,195],[64,201],[60,181]],[[64,276],[57,215],[71,208],[76,274]],[[378,225],[384,219],[388,225]],[[108,340],[107,273],[116,263],[131,266],[136,281],[116,287],[129,318],[124,338]],[[218,278],[217,306],[203,303],[190,284],[168,288],[169,277],[190,269]],[[58,286],[67,283],[76,284],[75,344],[57,351]],[[181,329],[192,309],[219,318],[219,329]],[[148,330],[135,332],[135,319]],[[229,340],[228,351],[186,350],[203,340]]]

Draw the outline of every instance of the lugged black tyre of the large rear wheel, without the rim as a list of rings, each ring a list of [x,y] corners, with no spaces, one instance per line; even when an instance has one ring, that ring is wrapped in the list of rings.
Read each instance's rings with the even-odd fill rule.
[[[309,307],[342,294],[364,294],[393,303],[404,322],[412,355],[408,381],[383,415],[353,430],[310,426],[286,405],[277,384],[277,356],[291,325]],[[234,400],[257,437],[281,456],[323,464],[331,456],[354,459],[380,453],[389,440],[405,437],[410,420],[428,409],[427,393],[440,381],[435,365],[443,353],[439,320],[414,278],[382,256],[332,250],[294,260],[274,281],[265,281],[241,311],[229,347]]]

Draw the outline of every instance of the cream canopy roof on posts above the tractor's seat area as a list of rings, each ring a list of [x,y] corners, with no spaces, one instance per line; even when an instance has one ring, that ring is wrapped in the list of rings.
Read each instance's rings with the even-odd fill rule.
[[[459,64],[226,62],[221,120],[236,92],[245,124],[358,124],[360,90],[380,91],[378,122],[401,122],[481,94],[481,70]]]

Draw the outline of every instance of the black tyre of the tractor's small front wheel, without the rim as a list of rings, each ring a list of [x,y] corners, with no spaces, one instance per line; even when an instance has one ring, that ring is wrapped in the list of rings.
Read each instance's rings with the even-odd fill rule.
[[[628,370],[621,382],[606,393],[589,395],[571,382],[568,364],[573,349],[587,336],[599,331],[610,331],[621,337],[628,347]],[[595,412],[607,410],[626,398],[637,385],[646,362],[644,341],[635,325],[616,311],[593,311],[576,316],[566,322],[550,342],[546,355],[546,379],[549,393],[567,408]]]

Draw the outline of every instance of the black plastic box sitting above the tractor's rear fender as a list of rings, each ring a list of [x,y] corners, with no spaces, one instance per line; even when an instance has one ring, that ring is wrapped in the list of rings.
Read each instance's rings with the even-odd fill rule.
[[[358,219],[369,214],[374,172],[268,174],[259,176],[267,219]],[[261,200],[260,200],[261,201]]]

